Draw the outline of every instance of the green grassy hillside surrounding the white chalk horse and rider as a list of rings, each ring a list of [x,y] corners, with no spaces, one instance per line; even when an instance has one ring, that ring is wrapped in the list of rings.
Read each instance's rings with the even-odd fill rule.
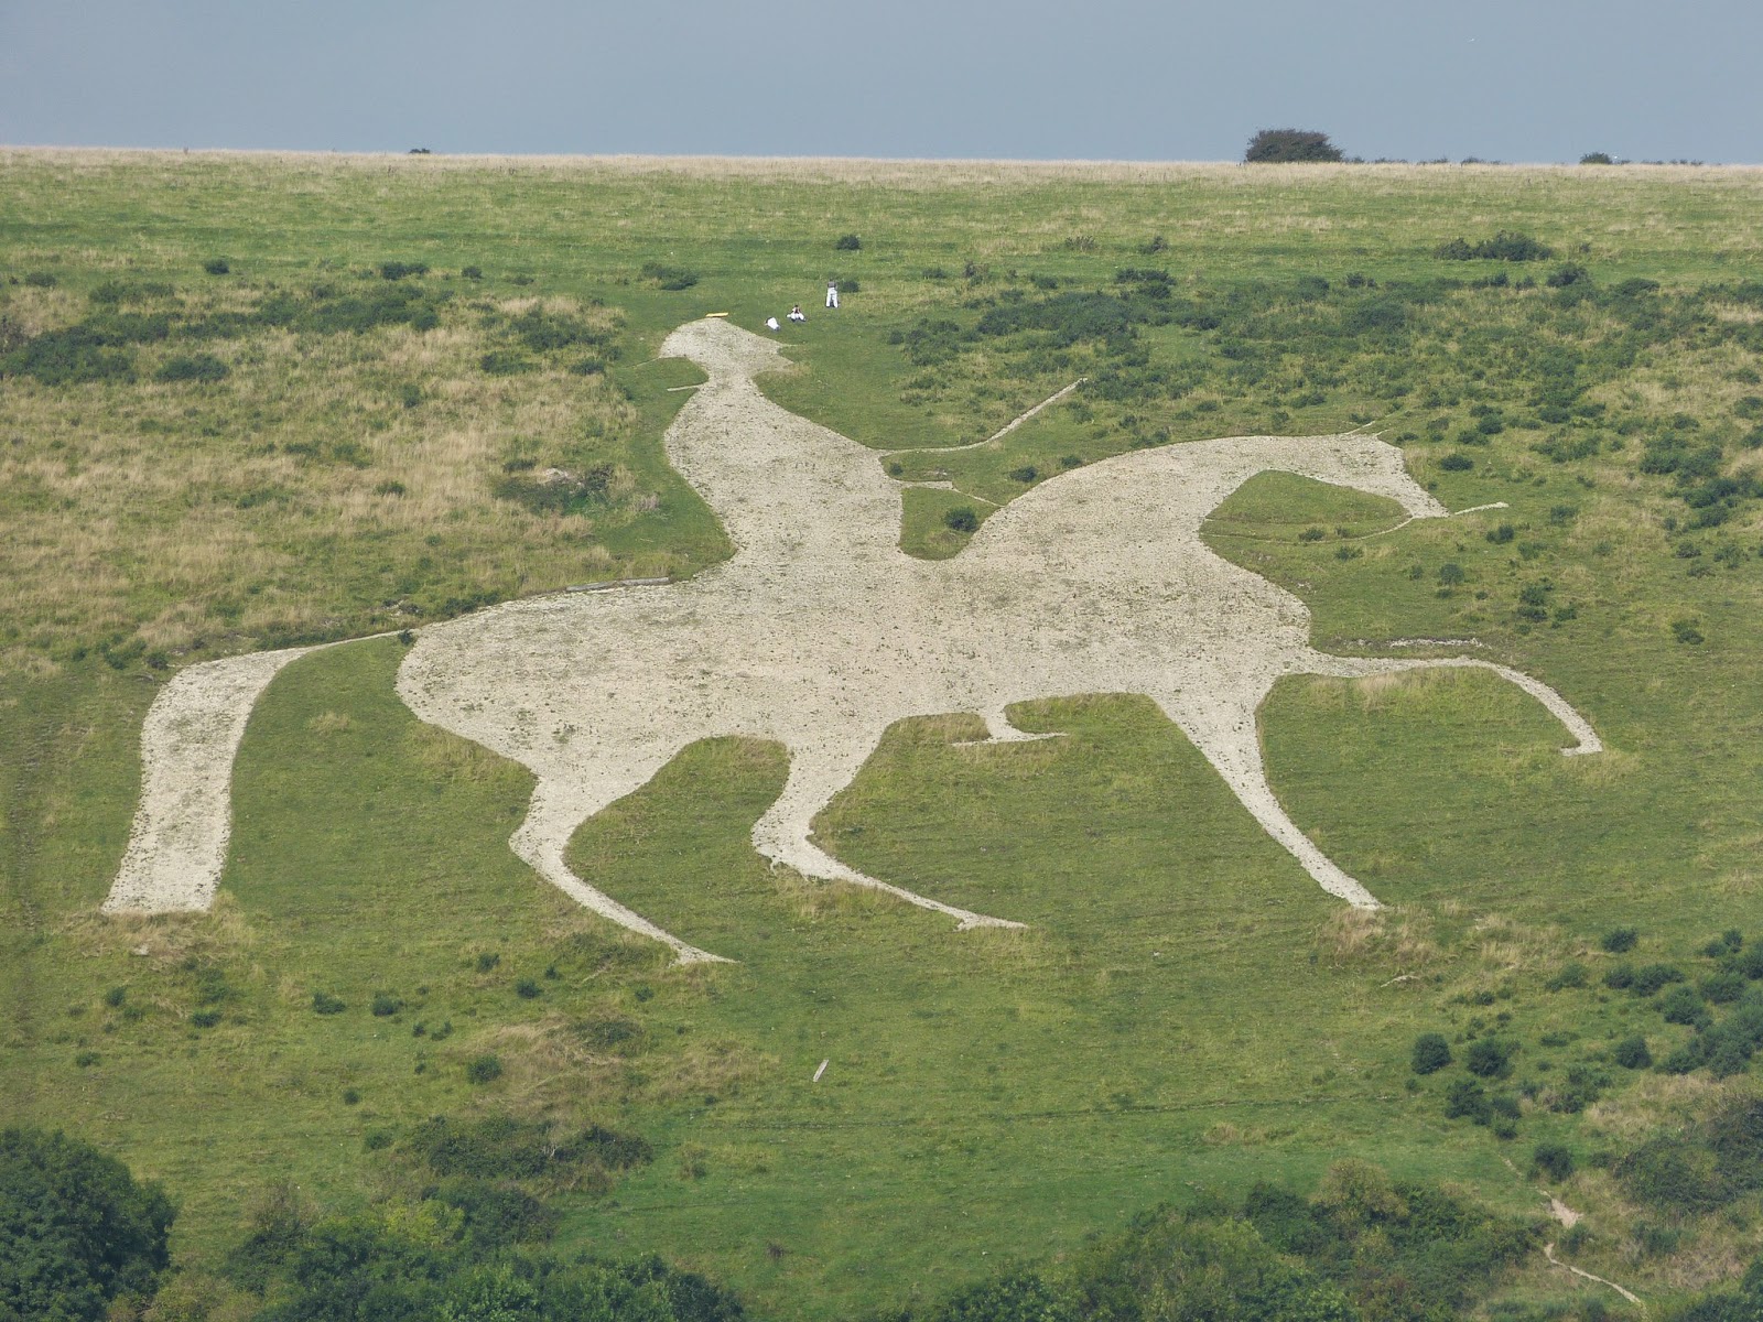
[[[1564,1144],[1578,1172],[1541,1183],[1588,1220],[1562,1253],[1648,1299],[1763,1244],[1754,1192],[1661,1200],[1625,1165],[1749,1073],[1615,1052],[1737,1022],[1740,952],[1708,943],[1763,940],[1763,175],[12,152],[0,183],[0,1112],[166,1179],[189,1260],[275,1179],[360,1206],[434,1114],[642,1135],[652,1162],[562,1190],[561,1243],[665,1251],[772,1317],[1340,1156],[1539,1213],[1532,1151]],[[1440,256],[1502,231],[1551,254]],[[1560,758],[1484,672],[1283,682],[1275,788],[1391,902],[1366,918],[1142,698],[1017,709],[1065,739],[1001,747],[908,721],[818,834],[1030,924],[952,932],[770,873],[748,830],[783,753],[714,740],[573,844],[739,961],[675,969],[508,851],[525,772],[418,724],[386,638],[259,705],[212,915],[97,917],[178,666],[721,559],[659,449],[696,374],[654,351],[795,301],[769,393],[878,451],[1084,379],[1000,446],[878,455],[956,486],[908,494],[917,553],[1135,446],[1380,430],[1451,509],[1507,508],[1396,529],[1269,474],[1208,541],[1320,647],[1474,640],[1435,650],[1544,679],[1610,751]],[[1622,964],[1677,968],[1708,1022],[1606,987]],[[1412,1073],[1423,1031],[1456,1063]],[[1447,1118],[1490,1038],[1491,1109]],[[1580,1289],[1539,1264],[1507,1294]]]

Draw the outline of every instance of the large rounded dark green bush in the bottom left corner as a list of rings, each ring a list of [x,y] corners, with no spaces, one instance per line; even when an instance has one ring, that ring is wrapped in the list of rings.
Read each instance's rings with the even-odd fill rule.
[[[0,1132],[0,1317],[99,1322],[120,1296],[150,1297],[173,1216],[157,1185],[95,1147]]]

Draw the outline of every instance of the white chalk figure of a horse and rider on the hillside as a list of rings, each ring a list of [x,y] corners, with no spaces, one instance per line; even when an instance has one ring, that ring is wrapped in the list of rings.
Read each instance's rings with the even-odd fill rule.
[[[1402,451],[1375,437],[1239,437],[1121,455],[1030,490],[961,555],[927,562],[899,550],[901,488],[876,453],[760,395],[753,377],[783,365],[774,342],[702,321],[673,331],[661,353],[709,374],[668,430],[666,453],[721,516],[733,557],[679,583],[532,598],[425,628],[398,672],[398,694],[423,721],[529,767],[538,788],[515,851],[681,961],[716,955],[596,890],[564,853],[577,827],[707,737],[788,749],[783,793],[753,828],[762,855],[876,887],[963,927],[1015,924],[864,876],[813,843],[815,814],[908,716],[978,712],[993,739],[1010,740],[1030,737],[1012,730],[1010,703],[1148,694],[1268,834],[1324,890],[1359,906],[1377,901],[1298,830],[1268,786],[1255,712],[1282,675],[1481,666],[1555,712],[1576,740],[1567,753],[1601,747],[1560,694],[1506,666],[1313,650],[1298,598],[1201,541],[1204,516],[1269,469],[1387,495],[1414,518],[1444,516]],[[224,698],[234,705],[224,719],[242,728],[240,694],[249,689],[249,710],[275,665],[263,656],[210,665],[257,666]],[[206,716],[224,723],[220,712]],[[176,776],[180,760],[164,747],[155,754],[152,728],[150,716],[150,784],[155,763]],[[185,767],[185,783],[206,776],[224,795],[231,756],[227,747],[206,767]],[[192,749],[183,760],[199,758]],[[226,850],[224,800],[219,818],[213,880]],[[136,823],[109,908],[155,908],[145,873],[153,830]]]

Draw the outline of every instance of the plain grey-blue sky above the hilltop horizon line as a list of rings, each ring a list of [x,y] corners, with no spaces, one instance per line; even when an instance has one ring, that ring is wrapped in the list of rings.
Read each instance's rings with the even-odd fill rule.
[[[1763,160],[1763,0],[0,0],[0,141]]]

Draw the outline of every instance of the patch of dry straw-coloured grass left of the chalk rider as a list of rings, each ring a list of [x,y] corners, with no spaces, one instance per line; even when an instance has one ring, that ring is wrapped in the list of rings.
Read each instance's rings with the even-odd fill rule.
[[[199,301],[217,310],[250,300]],[[497,310],[536,303],[504,300]],[[0,308],[33,330],[83,312],[60,289],[0,294]],[[614,323],[573,300],[547,308]],[[614,562],[592,518],[527,513],[490,492],[517,451],[555,462],[561,442],[591,428],[635,432],[635,405],[603,375],[487,375],[476,363],[487,337],[458,307],[432,331],[270,330],[210,347],[233,367],[219,384],[152,381],[166,358],[187,353],[176,342],[143,347],[134,384],[7,384],[0,435],[14,439],[0,446],[0,486],[32,499],[7,515],[0,575],[14,585],[9,617],[25,636],[48,635],[65,652],[65,640],[92,647],[138,633],[176,654],[234,650],[227,638],[273,629],[397,628],[416,613],[397,592],[400,569],[443,538],[464,578],[501,596],[561,587],[562,566],[580,575]],[[402,405],[404,382],[420,386],[416,407]],[[360,446],[361,458],[328,458],[333,442]],[[642,494],[619,469],[610,495]],[[338,594],[305,568],[335,543],[379,546],[384,561],[384,592],[347,603],[346,619]]]

